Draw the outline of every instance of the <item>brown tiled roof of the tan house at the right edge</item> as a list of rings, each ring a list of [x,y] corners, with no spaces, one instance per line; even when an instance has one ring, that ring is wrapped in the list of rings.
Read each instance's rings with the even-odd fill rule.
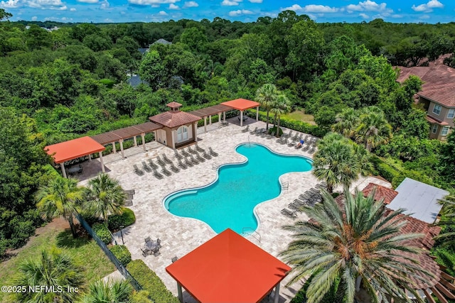
[[[455,69],[446,65],[398,68],[398,82],[402,83],[410,75],[416,75],[424,82],[422,91],[417,93],[420,97],[446,107],[455,107]]]

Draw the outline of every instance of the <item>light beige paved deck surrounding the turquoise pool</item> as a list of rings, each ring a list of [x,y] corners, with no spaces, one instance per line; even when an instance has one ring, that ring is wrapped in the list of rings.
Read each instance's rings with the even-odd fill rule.
[[[141,147],[125,150],[127,158],[122,160],[119,159],[119,155],[106,155],[104,157],[105,163],[107,163],[107,173],[119,180],[124,189],[135,189],[136,192],[133,206],[130,207],[136,214],[136,223],[123,229],[124,245],[132,253],[133,260],[144,260],[144,263],[156,272],[168,290],[171,290],[175,295],[177,295],[176,281],[165,270],[166,266],[171,264],[171,258],[174,256],[181,258],[205,241],[213,238],[216,233],[202,221],[182,218],[169,213],[162,204],[164,197],[179,189],[199,187],[212,182],[216,178],[216,170],[213,169],[213,166],[242,162],[245,158],[235,152],[235,146],[239,143],[262,143],[277,153],[305,155],[311,158],[309,153],[296,150],[288,145],[281,145],[276,142],[275,138],[267,139],[251,135],[250,132],[242,133],[241,130],[246,125],[250,125],[250,130],[255,129],[255,127],[265,127],[265,123],[262,121],[253,121],[249,118],[243,127],[238,125],[236,117],[228,119],[228,121],[230,122],[229,125],[221,128],[218,128],[218,123],[208,126],[207,133],[203,132],[203,127],[198,129],[198,145],[205,150],[209,146],[212,147],[219,154],[218,157],[205,160],[205,162],[188,167],[181,172],[172,173],[171,176],[164,177],[162,180],[156,179],[152,173],[147,172],[143,176],[138,176],[134,174],[132,168],[134,164],[141,167],[141,161],[154,159],[157,155],[161,157],[163,153],[172,160],[173,150],[159,143],[147,143],[145,153],[140,152]],[[287,129],[284,131],[285,133],[289,132]],[[82,180],[80,184],[86,184],[88,177],[94,175],[99,166],[98,160],[92,160],[91,164],[85,164],[84,173],[80,176]],[[355,182],[352,188],[358,186],[363,189],[372,181],[390,187],[388,182],[368,177]],[[277,258],[280,258],[279,253],[286,249],[288,243],[292,241],[291,233],[284,231],[282,226],[293,224],[297,220],[308,219],[305,214],[299,213],[298,219],[294,221],[282,215],[281,210],[287,208],[289,203],[299,197],[299,194],[319,183],[311,171],[287,173],[280,177],[280,182],[289,182],[289,188],[283,190],[279,197],[256,206],[255,210],[260,220],[256,231],[260,235],[260,242],[257,234],[246,237]],[[117,243],[122,244],[120,233],[116,233],[114,236],[117,238]],[[161,239],[160,255],[147,255],[146,257],[142,255],[140,247],[144,243],[144,238],[148,236],[152,239]],[[289,302],[301,287],[301,283],[285,287],[284,285],[288,280],[289,277],[282,282],[279,302]],[[272,302],[273,295],[264,299],[264,302],[268,302],[268,299]],[[183,301],[196,302],[187,292],[183,292]]]

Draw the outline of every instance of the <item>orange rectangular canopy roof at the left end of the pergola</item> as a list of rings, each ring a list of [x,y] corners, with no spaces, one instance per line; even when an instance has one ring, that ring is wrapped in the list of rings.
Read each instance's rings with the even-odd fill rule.
[[[55,163],[63,163],[65,161],[77,159],[92,153],[98,153],[105,150],[105,147],[90,137],[82,137],[65,141],[53,145],[48,145],[44,148],[48,155],[54,158]]]

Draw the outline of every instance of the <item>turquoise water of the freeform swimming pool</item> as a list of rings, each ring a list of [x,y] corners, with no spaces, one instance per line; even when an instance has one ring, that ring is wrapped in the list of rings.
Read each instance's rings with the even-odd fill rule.
[[[237,146],[247,162],[223,165],[218,180],[207,187],[184,189],[164,199],[172,214],[204,221],[216,233],[231,228],[242,233],[244,227],[257,228],[253,209],[277,197],[281,191],[278,177],[287,172],[311,170],[311,161],[294,155],[279,155],[263,145]],[[277,214],[278,215],[278,214]]]

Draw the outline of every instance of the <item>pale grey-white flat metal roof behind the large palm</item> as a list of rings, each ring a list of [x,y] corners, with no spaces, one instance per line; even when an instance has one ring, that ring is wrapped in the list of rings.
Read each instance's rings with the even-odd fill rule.
[[[429,184],[406,178],[398,185],[397,197],[388,205],[390,209],[406,209],[405,214],[433,224],[442,206],[438,201],[449,192]]]

